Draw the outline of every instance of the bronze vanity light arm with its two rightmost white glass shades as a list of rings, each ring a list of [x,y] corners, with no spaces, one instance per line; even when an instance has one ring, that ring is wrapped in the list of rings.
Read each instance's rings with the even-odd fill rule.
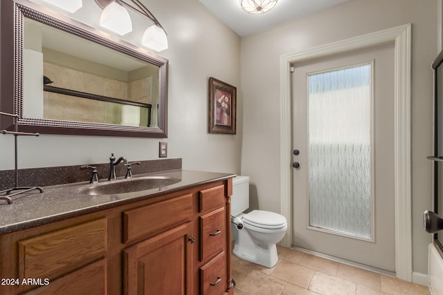
[[[125,8],[129,8],[138,14],[147,17],[152,22],[143,34],[142,44],[156,51],[168,48],[168,37],[166,37],[165,29],[159,21],[152,15],[150,10],[138,0],[96,0],[98,6],[103,9],[100,17],[100,26],[103,26],[119,35],[125,35],[132,31],[132,22],[129,13]],[[113,8],[110,8],[110,6]],[[110,8],[111,12],[107,12]],[[123,8],[123,10],[121,9]],[[112,15],[111,15],[112,13]],[[106,21],[105,21],[106,19]],[[123,23],[120,23],[123,21]],[[123,33],[122,33],[123,32]]]

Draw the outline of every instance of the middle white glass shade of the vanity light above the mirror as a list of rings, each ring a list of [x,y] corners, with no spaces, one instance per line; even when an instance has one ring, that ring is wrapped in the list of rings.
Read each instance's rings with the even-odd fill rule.
[[[125,35],[132,31],[129,12],[116,2],[111,2],[105,7],[100,17],[100,26],[116,32],[118,35]]]

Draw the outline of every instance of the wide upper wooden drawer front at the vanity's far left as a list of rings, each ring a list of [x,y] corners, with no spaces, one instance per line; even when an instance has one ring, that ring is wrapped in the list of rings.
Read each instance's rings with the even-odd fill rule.
[[[19,241],[19,276],[48,278],[106,254],[107,220],[101,218]]]

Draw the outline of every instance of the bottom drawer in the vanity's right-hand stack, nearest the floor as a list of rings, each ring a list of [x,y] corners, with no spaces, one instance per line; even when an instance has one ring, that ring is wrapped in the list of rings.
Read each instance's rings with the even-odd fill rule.
[[[222,252],[200,268],[200,294],[224,294],[226,277],[226,254]]]

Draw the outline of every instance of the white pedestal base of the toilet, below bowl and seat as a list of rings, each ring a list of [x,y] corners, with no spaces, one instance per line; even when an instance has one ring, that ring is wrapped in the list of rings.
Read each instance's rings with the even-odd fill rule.
[[[277,264],[278,255],[275,244],[257,245],[246,232],[235,238],[242,240],[242,242],[235,240],[234,244],[233,254],[238,258],[269,268]]]

